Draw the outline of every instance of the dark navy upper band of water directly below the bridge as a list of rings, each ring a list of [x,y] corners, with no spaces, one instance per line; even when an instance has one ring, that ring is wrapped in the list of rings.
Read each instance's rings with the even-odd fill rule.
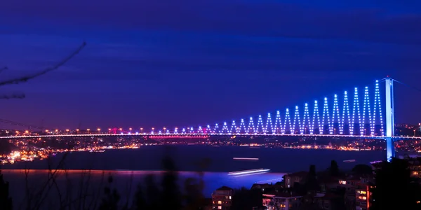
[[[232,172],[246,169],[268,168],[272,172],[296,172],[307,170],[309,165],[316,169],[326,169],[330,160],[336,160],[339,167],[352,169],[357,164],[368,164],[373,160],[383,160],[385,151],[334,151],[288,148],[251,148],[244,146],[142,146],[133,150],[109,150],[105,153],[69,153],[66,167],[69,169],[128,169],[161,170],[161,160],[165,154],[171,155],[180,171],[197,171],[203,159],[210,160],[206,172]],[[57,163],[62,155],[53,158]],[[259,158],[258,161],[236,161],[232,158]],[[343,160],[356,160],[345,163]],[[46,169],[46,160],[19,162],[6,165],[4,169]]]

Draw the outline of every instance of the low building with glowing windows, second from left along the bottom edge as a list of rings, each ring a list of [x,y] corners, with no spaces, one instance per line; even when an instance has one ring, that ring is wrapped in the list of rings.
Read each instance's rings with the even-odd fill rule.
[[[262,202],[267,210],[293,210],[300,207],[301,199],[302,196],[295,193],[266,193],[263,194]]]

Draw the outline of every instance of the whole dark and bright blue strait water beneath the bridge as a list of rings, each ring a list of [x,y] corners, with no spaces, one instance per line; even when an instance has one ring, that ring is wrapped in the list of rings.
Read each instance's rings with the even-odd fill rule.
[[[210,194],[220,186],[250,188],[253,183],[275,183],[281,181],[283,174],[288,172],[307,171],[309,165],[316,165],[316,170],[324,170],[330,165],[331,160],[336,160],[342,169],[352,169],[357,164],[368,164],[373,160],[385,158],[384,151],[331,151],[307,150],[286,148],[249,148],[240,146],[143,146],[134,150],[111,150],[105,153],[78,152],[70,153],[65,159],[68,179],[73,185],[80,183],[83,171],[92,169],[90,183],[98,188],[104,176],[112,174],[116,188],[121,192],[128,191],[128,186],[142,182],[147,174],[162,175],[161,160],[165,154],[171,155],[180,170],[180,185],[189,177],[198,177],[196,171],[203,168],[201,162],[208,160],[208,165],[203,169],[203,181],[206,183],[204,195]],[[238,161],[233,158],[259,158],[258,161]],[[52,158],[53,165],[62,159],[62,154]],[[343,160],[356,160],[343,162]],[[22,197],[25,192],[25,173],[23,168],[34,169],[29,175],[30,181],[42,183],[48,171],[46,160],[34,162],[19,162],[15,165],[4,166],[6,181],[11,183],[11,195],[14,198]],[[201,167],[202,166],[202,167]],[[246,169],[267,168],[271,173],[255,174],[250,176],[229,176],[227,172]],[[120,169],[116,171],[116,169]],[[65,174],[61,173],[59,180],[65,183]],[[131,184],[132,183],[132,184]],[[133,193],[133,190],[131,190]],[[17,202],[19,199],[15,199]]]

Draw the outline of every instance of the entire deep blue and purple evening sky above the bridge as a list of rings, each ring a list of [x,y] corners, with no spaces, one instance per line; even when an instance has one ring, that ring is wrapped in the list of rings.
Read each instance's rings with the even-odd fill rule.
[[[421,89],[421,2],[13,0],[0,76],[65,66],[1,92],[0,118],[60,128],[194,126],[312,102],[390,75]],[[396,122],[421,92],[396,85]]]

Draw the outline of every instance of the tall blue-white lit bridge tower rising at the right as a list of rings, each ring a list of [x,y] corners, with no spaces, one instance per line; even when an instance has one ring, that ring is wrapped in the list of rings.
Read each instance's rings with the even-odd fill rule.
[[[386,83],[386,146],[387,146],[387,161],[390,162],[395,157],[394,148],[394,102],[393,102],[393,80],[392,78],[385,78]]]

